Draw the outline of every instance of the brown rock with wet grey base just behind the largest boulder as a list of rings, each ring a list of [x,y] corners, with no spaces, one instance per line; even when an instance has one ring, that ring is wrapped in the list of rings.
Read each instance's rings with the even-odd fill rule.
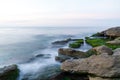
[[[55,57],[56,61],[64,62],[68,59],[78,59],[78,58],[85,58],[86,53],[82,51],[77,51],[71,48],[60,48],[58,50],[58,56]]]

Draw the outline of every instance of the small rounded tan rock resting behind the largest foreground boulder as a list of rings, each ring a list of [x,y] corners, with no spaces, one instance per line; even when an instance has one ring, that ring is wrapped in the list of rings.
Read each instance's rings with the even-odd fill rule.
[[[112,55],[113,54],[112,49],[108,48],[105,45],[94,47],[93,50],[95,50],[97,54],[102,54],[102,53],[107,53],[108,55]]]

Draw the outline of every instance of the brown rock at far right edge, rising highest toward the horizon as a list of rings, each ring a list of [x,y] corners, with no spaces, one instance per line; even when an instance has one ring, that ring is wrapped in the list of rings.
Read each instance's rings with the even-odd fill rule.
[[[105,36],[120,37],[120,27],[109,28],[101,33],[104,33]]]

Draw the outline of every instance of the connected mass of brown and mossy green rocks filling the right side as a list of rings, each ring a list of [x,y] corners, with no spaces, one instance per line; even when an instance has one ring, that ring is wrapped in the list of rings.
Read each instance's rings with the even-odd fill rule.
[[[120,80],[120,27],[94,34],[86,41],[93,46],[87,52],[70,48],[58,50],[57,60],[62,62],[61,70],[77,73],[79,77],[85,75],[88,80]],[[69,77],[67,80],[78,79]]]

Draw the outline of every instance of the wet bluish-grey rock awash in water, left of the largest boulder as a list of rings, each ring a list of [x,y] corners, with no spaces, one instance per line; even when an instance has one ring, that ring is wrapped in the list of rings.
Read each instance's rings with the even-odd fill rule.
[[[28,73],[23,76],[22,80],[51,80],[51,78],[57,76],[61,73],[60,65],[49,64],[40,68],[35,73]]]

